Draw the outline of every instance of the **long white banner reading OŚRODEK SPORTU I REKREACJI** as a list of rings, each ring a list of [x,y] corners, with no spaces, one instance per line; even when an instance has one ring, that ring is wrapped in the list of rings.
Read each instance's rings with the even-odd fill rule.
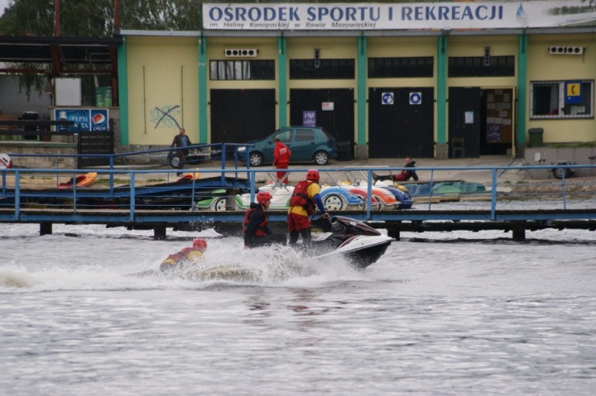
[[[203,4],[204,29],[380,30],[557,27],[596,21],[590,1]]]

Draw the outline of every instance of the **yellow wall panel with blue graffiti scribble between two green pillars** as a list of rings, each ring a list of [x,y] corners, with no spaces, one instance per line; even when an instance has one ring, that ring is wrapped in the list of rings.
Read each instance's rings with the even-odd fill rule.
[[[205,143],[198,141],[197,43],[197,38],[187,37],[127,38],[131,144],[169,145],[178,134],[176,122],[192,143]],[[178,107],[171,110],[174,106]]]

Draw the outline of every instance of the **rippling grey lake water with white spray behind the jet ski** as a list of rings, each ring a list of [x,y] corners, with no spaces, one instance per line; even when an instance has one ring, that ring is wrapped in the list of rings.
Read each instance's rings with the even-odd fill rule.
[[[0,225],[2,395],[593,395],[596,235],[412,234],[354,271],[196,234]]]

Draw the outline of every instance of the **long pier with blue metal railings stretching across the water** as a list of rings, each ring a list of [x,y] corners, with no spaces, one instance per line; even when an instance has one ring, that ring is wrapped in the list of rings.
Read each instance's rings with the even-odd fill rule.
[[[223,150],[225,153],[225,150]],[[225,156],[225,154],[224,154]],[[153,229],[155,238],[167,237],[166,230],[201,230],[214,228],[222,234],[239,234],[245,209],[239,207],[239,195],[252,194],[264,183],[274,179],[275,169],[249,169],[236,162],[229,167],[221,162],[186,169],[189,178],[180,181],[175,169],[136,169],[117,167],[114,158],[110,166],[97,169],[0,169],[0,222],[37,223],[40,234],[51,234],[52,225],[102,224],[107,227]],[[227,166],[228,165],[228,166]],[[308,166],[308,165],[307,165]],[[595,165],[568,165],[591,174]],[[423,182],[404,183],[410,191],[423,190],[428,195],[413,195],[408,209],[378,210],[367,180],[373,174],[399,173],[400,167],[319,167],[322,185],[358,184],[368,197],[360,208],[331,211],[362,220],[373,227],[387,229],[399,239],[404,233],[479,232],[500,229],[510,232],[514,240],[523,240],[527,232],[539,229],[596,229],[595,178],[568,178],[527,181],[504,180],[503,174],[525,174],[529,171],[550,171],[545,166],[523,167],[417,167]],[[304,175],[308,168],[292,168],[292,178]],[[87,187],[57,188],[59,183],[78,174],[97,173],[97,181]],[[460,195],[441,193],[445,175],[457,172],[462,185],[478,180],[480,188]],[[192,176],[191,176],[192,175]],[[475,175],[475,176],[474,176]],[[280,188],[283,188],[280,185]],[[435,193],[433,193],[435,192]],[[218,206],[199,206],[197,202],[217,196]],[[273,227],[285,228],[286,211],[270,210]]]

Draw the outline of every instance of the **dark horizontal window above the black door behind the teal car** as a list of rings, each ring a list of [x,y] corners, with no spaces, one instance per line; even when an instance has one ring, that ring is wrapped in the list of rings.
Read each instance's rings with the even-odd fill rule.
[[[353,80],[354,59],[290,59],[290,80]]]

